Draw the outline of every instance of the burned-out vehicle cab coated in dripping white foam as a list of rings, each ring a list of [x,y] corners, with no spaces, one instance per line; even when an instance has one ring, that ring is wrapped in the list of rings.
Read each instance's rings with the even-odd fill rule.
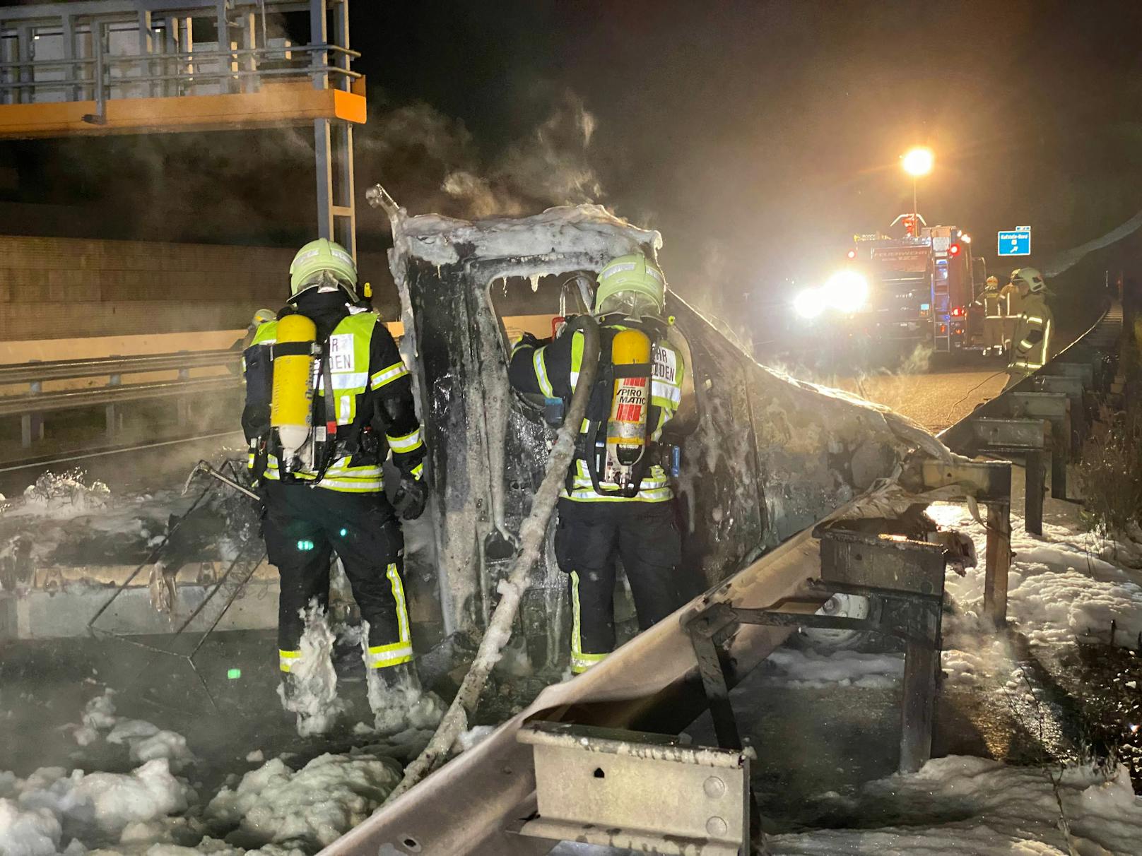
[[[476,223],[386,208],[402,347],[416,366],[431,455],[434,549],[410,549],[424,583],[412,596],[439,598],[445,635],[478,633],[555,436],[541,406],[510,387],[510,339],[550,336],[570,277],[593,280],[617,256],[653,257],[661,239],[594,205]],[[679,450],[681,573],[695,595],[888,475],[904,444],[882,411],[756,364],[673,293],[667,312],[686,365],[683,406],[664,443]],[[530,665],[545,671],[565,660],[570,627],[553,528],[515,632]]]

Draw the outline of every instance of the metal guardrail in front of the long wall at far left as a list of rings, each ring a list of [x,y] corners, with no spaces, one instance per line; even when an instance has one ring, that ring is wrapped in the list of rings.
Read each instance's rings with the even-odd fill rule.
[[[178,422],[188,419],[187,398],[193,395],[226,395],[242,389],[236,375],[191,378],[192,369],[230,366],[239,354],[228,349],[147,354],[138,356],[98,357],[95,360],[59,360],[18,363],[0,366],[0,386],[29,383],[30,390],[0,396],[0,418],[19,417],[21,445],[29,449],[34,439],[43,438],[43,414],[85,407],[104,407],[106,437],[113,439],[119,429],[116,407],[132,402],[160,398],[178,399]],[[123,383],[123,374],[177,371],[177,380]],[[80,378],[108,378],[107,386],[87,389],[42,391],[45,381]]]

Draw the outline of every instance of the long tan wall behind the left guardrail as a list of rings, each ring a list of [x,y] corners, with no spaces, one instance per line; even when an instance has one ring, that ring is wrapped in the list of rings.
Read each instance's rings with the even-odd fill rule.
[[[130,337],[167,334],[172,346],[160,349],[179,350],[194,338],[185,333],[244,329],[255,309],[283,304],[292,256],[292,249],[264,247],[0,236],[2,357],[99,356],[108,347],[136,353],[106,340],[129,346]],[[379,253],[363,255],[360,265],[364,280],[386,269]],[[29,346],[75,338],[93,339],[93,353]]]

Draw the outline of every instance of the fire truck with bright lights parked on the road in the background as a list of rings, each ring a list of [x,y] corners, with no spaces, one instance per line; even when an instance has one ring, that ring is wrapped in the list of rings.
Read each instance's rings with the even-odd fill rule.
[[[917,223],[914,215],[898,221],[903,237],[853,235],[850,268],[868,291],[852,322],[879,341],[930,342],[938,353],[972,347],[982,332],[974,304],[986,268],[983,259],[972,258],[971,237],[956,226]]]

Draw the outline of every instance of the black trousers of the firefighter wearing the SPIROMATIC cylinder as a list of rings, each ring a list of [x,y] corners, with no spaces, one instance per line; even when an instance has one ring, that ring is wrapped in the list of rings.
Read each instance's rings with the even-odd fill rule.
[[[614,649],[616,559],[630,583],[638,628],[679,605],[682,535],[674,502],[560,500],[555,558],[570,578],[571,670],[584,672]]]

